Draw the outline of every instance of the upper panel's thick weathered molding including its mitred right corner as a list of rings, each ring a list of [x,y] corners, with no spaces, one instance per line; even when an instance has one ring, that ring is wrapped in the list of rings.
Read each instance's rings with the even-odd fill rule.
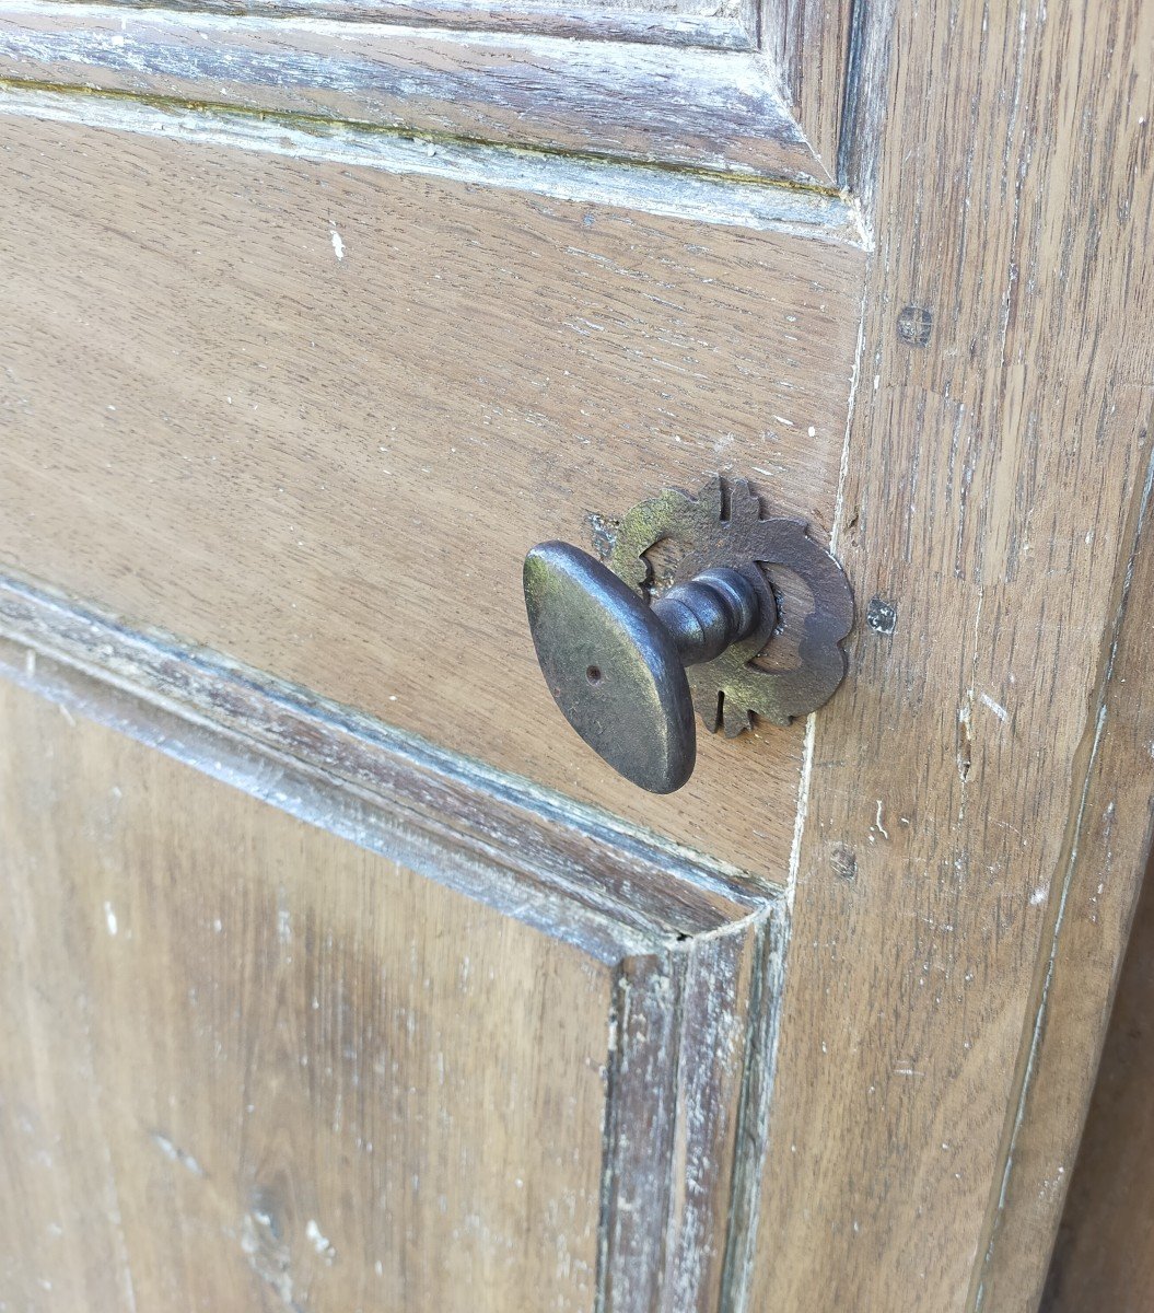
[[[831,192],[848,0],[796,8],[9,0],[0,83]]]

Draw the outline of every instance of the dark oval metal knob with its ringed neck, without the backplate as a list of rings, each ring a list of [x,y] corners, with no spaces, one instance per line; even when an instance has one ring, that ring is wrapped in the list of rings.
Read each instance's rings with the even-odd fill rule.
[[[537,659],[568,723],[633,784],[681,788],[697,759],[685,667],[758,628],[750,580],[705,570],[646,605],[587,551],[542,542],[525,558],[524,582]]]

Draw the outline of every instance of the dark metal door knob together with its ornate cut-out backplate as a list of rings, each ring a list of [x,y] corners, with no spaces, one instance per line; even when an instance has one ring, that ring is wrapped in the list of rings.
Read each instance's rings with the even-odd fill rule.
[[[664,540],[681,559],[671,586],[647,599],[646,553]],[[803,617],[779,614],[775,570],[805,584],[813,605]],[[593,751],[651,793],[672,793],[693,772],[695,705],[727,737],[752,714],[788,725],[831,697],[845,672],[839,643],[853,601],[840,566],[802,523],[761,519],[744,481],[727,496],[714,479],[697,498],[667,491],[642,502],[621,521],[608,565],[542,542],[525,558],[524,586],[554,701]],[[790,618],[794,666],[751,664]]]

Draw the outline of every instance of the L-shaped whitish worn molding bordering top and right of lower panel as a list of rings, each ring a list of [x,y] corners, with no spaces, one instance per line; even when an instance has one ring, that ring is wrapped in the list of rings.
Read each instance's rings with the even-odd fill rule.
[[[718,1306],[760,1190],[779,890],[11,578],[0,676],[612,965],[599,1309]]]

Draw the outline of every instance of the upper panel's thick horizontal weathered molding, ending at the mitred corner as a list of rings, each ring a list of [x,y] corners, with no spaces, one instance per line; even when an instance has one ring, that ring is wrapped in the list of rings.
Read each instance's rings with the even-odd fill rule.
[[[0,0],[0,77],[832,186],[751,51]]]

